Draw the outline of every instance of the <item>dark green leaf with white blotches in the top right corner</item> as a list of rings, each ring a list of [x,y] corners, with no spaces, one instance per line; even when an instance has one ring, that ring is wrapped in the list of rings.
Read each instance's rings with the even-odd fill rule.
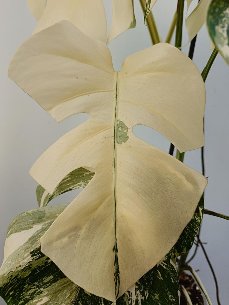
[[[229,64],[229,0],[213,0],[207,16],[209,35]]]

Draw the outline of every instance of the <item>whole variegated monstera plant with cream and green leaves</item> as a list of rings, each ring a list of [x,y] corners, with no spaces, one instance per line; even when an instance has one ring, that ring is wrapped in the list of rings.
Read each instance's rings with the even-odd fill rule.
[[[31,168],[39,207],[17,216],[7,231],[0,269],[7,304],[178,305],[180,290],[192,304],[179,285],[185,268],[211,304],[186,264],[207,179],[182,161],[185,151],[204,145],[204,81],[218,51],[228,61],[229,4],[201,0],[186,19],[190,40],[207,19],[217,48],[200,74],[179,49],[184,0],[169,30],[171,36],[176,26],[175,46],[155,43],[156,1],[140,2],[154,45],[128,56],[120,72],[106,43],[135,27],[132,0],[112,0],[108,37],[102,0],[27,2],[39,21],[16,51],[9,77],[57,122],[76,113],[90,118]],[[138,124],[168,138],[170,153],[137,138]],[[82,187],[70,204],[47,206]]]

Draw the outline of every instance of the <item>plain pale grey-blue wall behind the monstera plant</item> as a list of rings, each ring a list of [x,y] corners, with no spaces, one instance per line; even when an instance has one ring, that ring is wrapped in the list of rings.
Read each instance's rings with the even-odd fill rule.
[[[197,2],[194,0],[194,2]],[[104,0],[108,27],[111,23],[111,0]],[[151,45],[147,27],[138,0],[134,1],[137,26],[128,30],[109,44],[115,70],[120,70],[126,56]],[[158,0],[154,6],[154,17],[164,40],[176,9],[176,0]],[[0,264],[3,260],[3,247],[7,227],[13,218],[26,210],[37,207],[36,181],[29,175],[35,160],[53,142],[67,131],[87,119],[79,114],[56,121],[33,99],[7,77],[9,61],[16,48],[27,39],[36,25],[30,14],[26,0],[7,0],[1,3],[0,11],[1,57],[0,57]],[[174,41],[174,38],[173,38]],[[183,42],[187,41],[184,31]],[[194,63],[202,71],[210,54],[210,40],[204,26],[198,34],[194,53]],[[187,54],[188,47],[183,49]],[[207,102],[205,110],[205,167],[209,183],[205,192],[205,207],[229,215],[228,207],[228,80],[229,69],[220,55],[217,56],[206,81]],[[134,127],[135,135],[166,152],[169,141],[146,126]],[[187,152],[184,162],[201,172],[200,149]],[[70,202],[78,191],[66,193],[54,199],[52,204]],[[228,233],[229,222],[205,215],[201,239],[215,268],[220,286],[221,303],[227,304],[228,289]],[[194,269],[204,283],[209,296],[216,304],[212,274],[199,249],[192,261]],[[0,305],[5,304],[0,298]]]

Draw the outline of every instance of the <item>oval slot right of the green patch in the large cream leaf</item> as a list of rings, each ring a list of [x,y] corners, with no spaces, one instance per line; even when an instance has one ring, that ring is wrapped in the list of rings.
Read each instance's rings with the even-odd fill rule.
[[[133,127],[133,134],[143,141],[153,145],[164,152],[169,151],[170,142],[160,132],[145,125],[136,125]]]

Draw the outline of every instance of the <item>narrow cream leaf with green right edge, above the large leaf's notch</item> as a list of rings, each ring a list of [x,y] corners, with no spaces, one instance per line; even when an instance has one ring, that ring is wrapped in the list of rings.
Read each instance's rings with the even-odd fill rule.
[[[133,0],[112,0],[112,22],[107,44],[128,29],[136,27]]]

